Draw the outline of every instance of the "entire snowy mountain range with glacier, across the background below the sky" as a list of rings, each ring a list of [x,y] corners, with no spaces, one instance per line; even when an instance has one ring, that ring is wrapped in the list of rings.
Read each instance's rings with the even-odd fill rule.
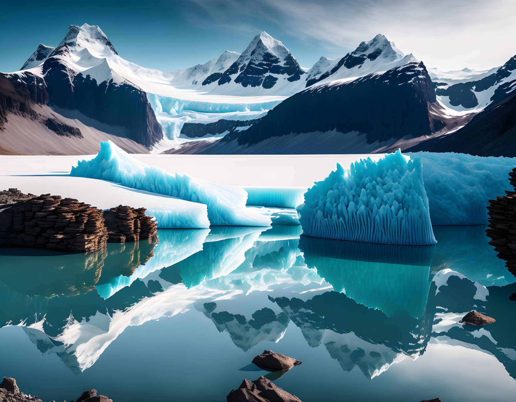
[[[316,138],[313,149],[322,153],[416,146],[484,110],[496,115],[491,106],[515,87],[514,60],[442,72],[379,34],[340,59],[320,57],[302,69],[262,31],[241,54],[162,72],[123,59],[98,26],[71,25],[55,48],[40,43],[20,71],[2,74],[0,150],[93,153],[106,139],[131,152],[168,153],[246,152],[262,140],[269,145],[253,152],[305,152],[300,143]],[[424,112],[415,116],[412,107]],[[294,140],[298,134],[312,138]]]

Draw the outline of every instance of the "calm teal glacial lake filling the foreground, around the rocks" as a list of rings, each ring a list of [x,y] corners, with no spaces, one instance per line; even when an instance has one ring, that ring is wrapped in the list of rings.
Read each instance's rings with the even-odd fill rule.
[[[516,277],[485,228],[434,227],[435,246],[274,226],[0,249],[0,374],[46,400],[225,401],[261,375],[303,402],[514,400]],[[465,328],[471,310],[496,322]],[[303,364],[264,372],[264,349]]]

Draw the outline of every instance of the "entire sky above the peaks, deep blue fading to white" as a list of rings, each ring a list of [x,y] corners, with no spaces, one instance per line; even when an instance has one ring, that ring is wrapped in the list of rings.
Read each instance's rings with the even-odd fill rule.
[[[381,33],[427,67],[488,69],[516,54],[515,13],[513,0],[5,2],[0,71],[18,70],[39,42],[56,46],[70,24],[84,23],[99,25],[121,57],[162,71],[241,53],[261,30],[302,67]]]

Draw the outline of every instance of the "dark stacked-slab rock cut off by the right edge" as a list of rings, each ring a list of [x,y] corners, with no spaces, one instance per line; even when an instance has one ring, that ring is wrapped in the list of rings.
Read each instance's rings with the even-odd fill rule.
[[[509,173],[511,185],[516,184],[516,167]],[[516,186],[514,186],[516,190]],[[507,269],[516,275],[516,192],[489,200],[486,234],[491,238],[489,244],[494,246],[498,258],[505,260]]]

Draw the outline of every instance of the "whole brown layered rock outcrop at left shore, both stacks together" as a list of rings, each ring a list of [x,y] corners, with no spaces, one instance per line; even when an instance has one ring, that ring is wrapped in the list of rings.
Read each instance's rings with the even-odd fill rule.
[[[108,241],[121,243],[157,236],[157,225],[145,214],[145,208],[120,205],[102,211],[58,195],[26,199],[29,195],[16,189],[3,191],[0,197],[7,203],[17,200],[0,208],[0,246],[4,247],[89,253],[105,248]]]

